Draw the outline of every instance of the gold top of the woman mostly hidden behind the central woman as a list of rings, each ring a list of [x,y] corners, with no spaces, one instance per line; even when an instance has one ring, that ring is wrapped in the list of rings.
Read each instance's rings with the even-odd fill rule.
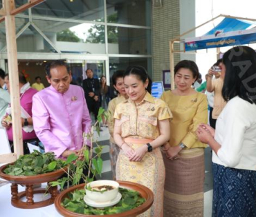
[[[113,115],[115,114],[115,110],[116,110],[116,105],[118,105],[119,103],[121,103],[122,101],[125,101],[125,97],[121,96],[120,94],[112,99],[109,102],[108,105],[108,118],[107,118],[107,124],[109,125],[109,134],[110,134],[110,141],[111,143],[114,143],[113,141],[113,127],[115,125],[115,119],[113,118]]]

